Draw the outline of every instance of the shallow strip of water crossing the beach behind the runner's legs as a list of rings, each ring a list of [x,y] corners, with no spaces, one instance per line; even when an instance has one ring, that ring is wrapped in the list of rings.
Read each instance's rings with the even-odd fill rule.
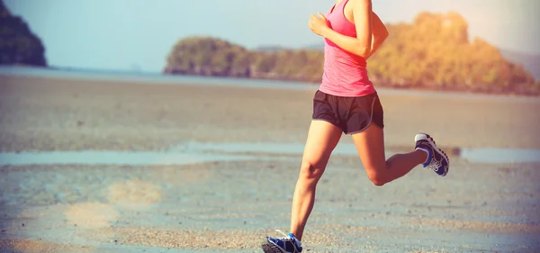
[[[85,164],[85,165],[186,165],[202,162],[255,159],[290,160],[301,156],[302,143],[198,143],[186,142],[167,151],[50,151],[0,153],[0,166]],[[387,152],[387,157],[392,156]],[[339,143],[334,154],[357,156],[354,144]],[[273,155],[273,156],[272,156]],[[284,155],[279,157],[275,155]],[[540,162],[540,149],[462,149],[461,158],[474,163]]]

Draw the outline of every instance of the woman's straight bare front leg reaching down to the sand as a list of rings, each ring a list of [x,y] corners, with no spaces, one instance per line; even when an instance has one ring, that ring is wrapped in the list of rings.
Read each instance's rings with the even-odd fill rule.
[[[332,150],[342,131],[325,121],[312,121],[304,148],[300,175],[296,182],[291,214],[291,232],[302,240],[302,234],[315,202],[315,187],[326,168]]]

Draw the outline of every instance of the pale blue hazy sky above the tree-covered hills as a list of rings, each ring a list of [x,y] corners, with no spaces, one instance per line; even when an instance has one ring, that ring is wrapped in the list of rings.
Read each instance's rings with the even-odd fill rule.
[[[49,66],[158,73],[175,42],[214,36],[253,49],[321,42],[311,14],[335,0],[4,0],[45,44]],[[422,11],[462,14],[471,38],[540,55],[538,0],[373,0],[384,23]]]

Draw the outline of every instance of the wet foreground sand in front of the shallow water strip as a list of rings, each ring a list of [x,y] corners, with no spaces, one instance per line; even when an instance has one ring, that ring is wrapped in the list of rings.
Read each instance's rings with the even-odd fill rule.
[[[16,252],[259,252],[266,234],[287,230],[295,178],[283,175],[297,165],[2,167],[0,243]],[[537,169],[458,161],[446,178],[419,167],[375,187],[357,158],[335,157],[307,252],[537,252]]]

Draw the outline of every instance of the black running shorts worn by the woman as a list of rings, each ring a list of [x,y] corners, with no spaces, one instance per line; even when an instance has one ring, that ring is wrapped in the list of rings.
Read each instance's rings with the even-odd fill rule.
[[[318,90],[313,98],[312,119],[330,122],[346,134],[364,131],[372,122],[384,128],[383,105],[377,93],[347,97]]]

